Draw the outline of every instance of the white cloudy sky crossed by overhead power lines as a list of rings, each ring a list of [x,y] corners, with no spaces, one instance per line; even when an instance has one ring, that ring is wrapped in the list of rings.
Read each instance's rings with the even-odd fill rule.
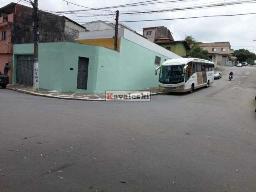
[[[142,2],[146,0],[68,0],[75,4],[90,8],[100,8],[107,6],[116,6],[120,4],[128,4],[134,2]],[[160,0],[167,1],[167,0]],[[210,4],[221,2],[233,2],[234,0],[185,0],[183,2],[168,2],[163,4],[153,4],[148,6],[136,6],[127,8],[118,8],[120,12],[128,10],[145,10],[159,8],[174,8],[176,6],[196,6],[197,4]],[[240,0],[241,1],[241,0]],[[11,0],[1,0],[0,7],[12,2]],[[18,2],[14,0],[13,2]],[[27,5],[23,0],[20,4]],[[63,10],[81,10],[86,9],[72,4],[67,4],[62,0],[38,0],[39,8],[52,11]],[[112,9],[113,13],[116,9]],[[93,10],[81,13],[98,13]],[[102,12],[102,11],[100,11]],[[120,16],[120,21],[127,20],[149,20],[149,19],[165,19],[165,18],[182,18],[193,16],[219,15],[219,14],[243,14],[256,12],[256,2],[250,4],[238,4],[232,6],[212,7],[197,10],[186,10],[177,12],[164,12],[155,14],[144,14],[136,16]],[[80,13],[80,12],[79,12]],[[81,15],[66,15],[81,16]],[[76,22],[90,22],[95,20],[113,21],[111,16],[83,17],[71,18]],[[148,21],[148,22],[126,22],[127,26],[133,28],[142,34],[142,28],[151,26],[165,26],[173,34],[174,40],[183,40],[186,35],[193,36],[200,42],[224,42],[229,41],[233,49],[248,49],[250,52],[256,53],[256,14],[229,17],[214,18],[194,18],[185,20],[169,20],[169,21]],[[82,23],[80,23],[82,24]]]

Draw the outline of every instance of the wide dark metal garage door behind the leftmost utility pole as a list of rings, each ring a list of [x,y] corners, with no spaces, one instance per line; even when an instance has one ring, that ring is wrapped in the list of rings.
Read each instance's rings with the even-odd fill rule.
[[[33,55],[18,55],[16,83],[33,86]]]

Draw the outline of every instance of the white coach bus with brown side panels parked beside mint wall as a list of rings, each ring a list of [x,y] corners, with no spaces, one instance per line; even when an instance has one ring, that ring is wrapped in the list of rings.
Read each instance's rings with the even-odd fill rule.
[[[214,81],[214,63],[198,58],[166,60],[160,69],[159,87],[167,92],[189,92],[206,87]]]

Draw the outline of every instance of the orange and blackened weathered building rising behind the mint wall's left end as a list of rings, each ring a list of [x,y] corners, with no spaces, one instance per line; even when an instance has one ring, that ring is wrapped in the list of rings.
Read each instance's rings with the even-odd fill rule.
[[[0,8],[0,71],[6,62],[12,63],[13,44],[34,42],[33,9],[16,3]],[[86,28],[69,18],[43,11],[38,11],[40,38],[39,42],[76,42],[79,32]],[[12,67],[9,74],[12,83]]]

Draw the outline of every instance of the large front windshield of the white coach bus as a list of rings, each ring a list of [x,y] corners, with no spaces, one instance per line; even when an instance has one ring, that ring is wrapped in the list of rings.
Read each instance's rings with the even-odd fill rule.
[[[164,84],[177,84],[184,82],[184,66],[185,65],[161,66],[159,82]]]

